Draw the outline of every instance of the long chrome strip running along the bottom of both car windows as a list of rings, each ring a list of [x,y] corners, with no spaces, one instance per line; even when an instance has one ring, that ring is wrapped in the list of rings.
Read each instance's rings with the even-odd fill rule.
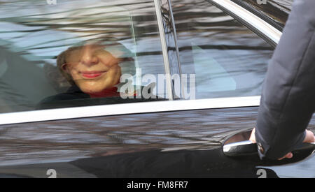
[[[216,108],[255,107],[260,103],[260,96],[207,98],[198,100],[156,101],[97,105],[51,110],[34,110],[0,114],[0,125],[21,124],[38,121],[76,119],[83,117],[102,117],[110,115],[130,115],[148,112],[170,112],[183,110],[204,110]]]

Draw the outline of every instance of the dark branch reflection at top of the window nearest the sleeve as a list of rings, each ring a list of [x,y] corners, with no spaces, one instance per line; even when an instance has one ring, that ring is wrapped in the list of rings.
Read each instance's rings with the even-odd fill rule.
[[[179,36],[210,39],[218,34],[248,34],[248,29],[204,0],[172,1]],[[189,2],[189,3],[188,3]],[[189,33],[187,33],[189,31]],[[181,47],[180,47],[181,48]]]

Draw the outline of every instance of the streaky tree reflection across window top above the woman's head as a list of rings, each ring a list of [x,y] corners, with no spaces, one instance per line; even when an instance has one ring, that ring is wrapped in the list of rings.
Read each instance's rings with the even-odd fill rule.
[[[45,1],[2,2],[0,10],[3,14],[1,15],[0,22],[19,24],[20,26],[24,26],[25,29],[12,31],[0,30],[0,32],[19,33],[19,36],[13,36],[11,40],[27,38],[29,34],[45,31],[63,31],[73,34],[72,37],[60,36],[58,39],[47,39],[40,43],[34,40],[32,45],[23,47],[25,50],[41,50],[69,46],[71,45],[71,40],[80,38],[104,41],[129,40],[132,38],[131,17],[134,21],[134,31],[138,33],[136,34],[138,35],[137,38],[146,38],[156,36],[157,34],[157,32],[155,34],[152,33],[154,29],[157,31],[155,13],[152,11],[152,2],[130,3],[130,1],[119,1],[120,3],[113,3],[111,1],[110,6],[102,6],[102,3],[98,2],[101,6],[95,4],[95,6],[90,6],[89,8],[80,8],[80,1],[72,2],[73,7],[69,7],[69,10],[56,9],[55,11],[52,11],[50,9],[52,7],[47,6]],[[21,11],[20,13],[22,15],[11,17],[10,14],[6,12],[6,8],[13,7],[19,10],[29,9],[33,10],[33,12],[27,15]],[[41,28],[34,30],[31,29],[32,27]],[[38,38],[40,38],[40,36],[38,36]],[[53,45],[51,45],[52,43]]]

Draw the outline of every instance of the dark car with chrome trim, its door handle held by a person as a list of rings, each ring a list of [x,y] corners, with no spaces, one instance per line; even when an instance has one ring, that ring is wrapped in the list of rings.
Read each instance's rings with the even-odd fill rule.
[[[1,2],[0,177],[314,177],[314,145],[246,142],[292,1],[266,3]],[[69,80],[87,51],[117,59],[105,97],[85,89],[109,69]]]

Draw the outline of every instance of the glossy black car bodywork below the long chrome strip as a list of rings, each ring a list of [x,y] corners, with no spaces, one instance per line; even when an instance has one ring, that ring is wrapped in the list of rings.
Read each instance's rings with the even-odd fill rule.
[[[293,163],[310,154],[279,162],[225,156],[223,141],[251,128],[257,110],[187,110],[0,126],[0,173],[48,177],[46,171],[55,168],[57,177],[258,177],[258,166]],[[309,128],[314,131],[315,118]],[[276,173],[269,170],[267,177]]]

